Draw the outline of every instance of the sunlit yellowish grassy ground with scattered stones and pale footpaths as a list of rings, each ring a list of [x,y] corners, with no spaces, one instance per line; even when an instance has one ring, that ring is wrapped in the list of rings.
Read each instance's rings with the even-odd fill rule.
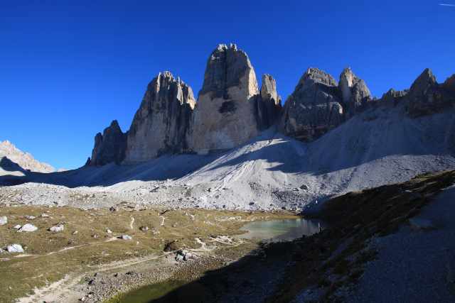
[[[241,233],[242,224],[291,214],[122,204],[111,209],[76,209],[10,202],[1,206],[2,216],[7,223],[0,226],[0,248],[17,243],[24,252],[0,253],[0,302],[12,302],[36,288],[36,296],[22,302],[43,298],[71,302],[82,297],[96,302],[130,287],[165,280],[183,266],[174,260],[181,248],[195,256],[190,262],[200,263],[196,268],[222,266],[230,258],[210,259],[223,255],[219,250],[233,249],[232,258],[238,258],[250,247],[232,238]],[[14,228],[25,224],[38,229],[18,232]],[[63,226],[63,231],[50,231],[53,226]],[[134,270],[135,266],[139,269]],[[104,283],[98,283],[103,279]]]

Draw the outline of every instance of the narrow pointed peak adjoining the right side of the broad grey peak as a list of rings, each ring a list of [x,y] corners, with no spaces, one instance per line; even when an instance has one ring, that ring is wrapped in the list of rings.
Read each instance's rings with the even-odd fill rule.
[[[341,72],[338,89],[340,89],[347,116],[353,116],[358,111],[365,109],[368,102],[372,100],[370,89],[363,79],[353,73],[350,67]]]

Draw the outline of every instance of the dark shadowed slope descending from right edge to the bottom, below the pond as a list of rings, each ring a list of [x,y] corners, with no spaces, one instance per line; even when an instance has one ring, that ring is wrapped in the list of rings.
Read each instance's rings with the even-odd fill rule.
[[[370,238],[395,233],[454,182],[452,170],[336,197],[326,202],[319,214],[331,224],[322,232],[264,246],[149,302],[284,303],[291,302],[302,290],[311,290],[305,293],[309,302],[344,302],[337,290],[354,287],[363,266],[375,259],[376,251],[368,248]],[[435,253],[440,250],[434,247]],[[416,285],[426,285],[431,278],[422,275],[422,283]],[[405,292],[410,297],[415,290]],[[431,288],[424,292],[432,296]],[[399,301],[399,296],[385,294],[388,302]]]

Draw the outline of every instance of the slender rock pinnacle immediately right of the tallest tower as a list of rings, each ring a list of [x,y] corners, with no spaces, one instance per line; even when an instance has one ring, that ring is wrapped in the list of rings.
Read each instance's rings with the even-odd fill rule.
[[[277,93],[277,82],[271,75],[262,75],[261,92],[257,97],[257,123],[259,130],[274,125],[281,114],[281,97]]]

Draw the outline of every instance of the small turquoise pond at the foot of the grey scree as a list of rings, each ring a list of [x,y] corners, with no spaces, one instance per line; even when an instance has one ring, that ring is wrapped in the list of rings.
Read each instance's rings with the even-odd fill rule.
[[[265,242],[292,241],[301,236],[311,236],[323,228],[323,222],[315,219],[255,221],[240,228],[247,233],[243,233],[239,238]]]

